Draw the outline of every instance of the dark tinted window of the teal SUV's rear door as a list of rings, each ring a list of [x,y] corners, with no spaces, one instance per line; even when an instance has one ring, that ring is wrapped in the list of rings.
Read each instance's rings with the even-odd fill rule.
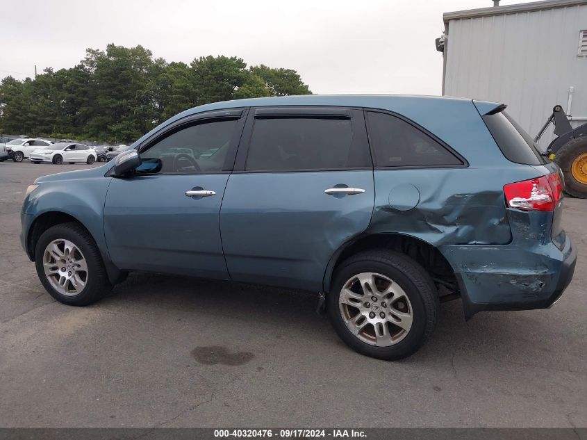
[[[364,168],[366,145],[355,145],[351,120],[338,117],[257,117],[245,170]],[[358,151],[363,147],[363,152]]]

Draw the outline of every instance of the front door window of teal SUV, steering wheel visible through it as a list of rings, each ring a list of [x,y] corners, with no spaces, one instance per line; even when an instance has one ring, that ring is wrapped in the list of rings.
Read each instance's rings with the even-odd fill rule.
[[[141,157],[160,159],[163,173],[220,172],[237,122],[216,120],[180,129],[143,150]]]

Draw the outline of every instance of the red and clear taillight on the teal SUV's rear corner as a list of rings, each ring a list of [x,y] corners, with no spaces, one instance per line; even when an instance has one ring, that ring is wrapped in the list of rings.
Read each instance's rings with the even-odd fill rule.
[[[554,211],[563,194],[558,172],[504,186],[506,203],[524,211]]]

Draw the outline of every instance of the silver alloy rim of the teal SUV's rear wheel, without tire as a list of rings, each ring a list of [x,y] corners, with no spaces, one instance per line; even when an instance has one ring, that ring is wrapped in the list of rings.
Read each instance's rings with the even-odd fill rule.
[[[377,347],[395,345],[412,327],[413,308],[404,289],[379,273],[349,278],[340,291],[338,308],[347,329]]]

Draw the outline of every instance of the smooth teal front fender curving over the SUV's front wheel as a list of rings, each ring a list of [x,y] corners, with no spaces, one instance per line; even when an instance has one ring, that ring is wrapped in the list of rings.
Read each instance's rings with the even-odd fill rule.
[[[110,181],[111,178],[94,177],[85,178],[83,181],[64,179],[41,182],[38,188],[25,199],[24,214],[32,220],[31,222],[51,211],[72,215],[90,231],[102,257],[109,259],[104,240],[103,219],[104,200]],[[24,234],[28,234],[28,231]]]

